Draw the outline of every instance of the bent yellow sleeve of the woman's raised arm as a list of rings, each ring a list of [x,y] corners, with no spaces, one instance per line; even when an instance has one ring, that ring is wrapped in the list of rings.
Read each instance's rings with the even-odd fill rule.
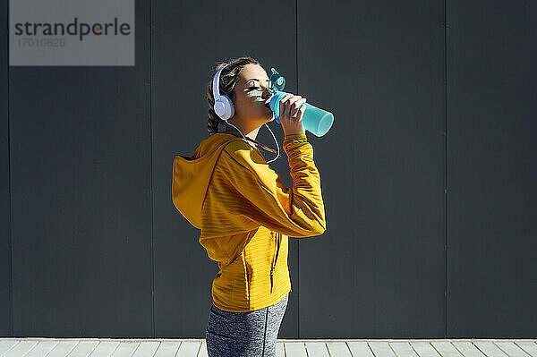
[[[219,159],[220,180],[234,196],[226,211],[292,237],[325,232],[327,224],[320,173],[305,134],[288,135],[283,143],[289,157],[293,187],[286,187],[257,149],[236,140]]]

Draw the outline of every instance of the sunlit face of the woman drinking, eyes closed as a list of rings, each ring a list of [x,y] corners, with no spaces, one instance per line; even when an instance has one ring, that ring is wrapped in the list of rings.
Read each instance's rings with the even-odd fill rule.
[[[272,95],[268,92],[268,75],[259,64],[246,64],[239,72],[234,86],[234,110],[238,120],[263,123],[274,120],[274,113],[265,102]]]

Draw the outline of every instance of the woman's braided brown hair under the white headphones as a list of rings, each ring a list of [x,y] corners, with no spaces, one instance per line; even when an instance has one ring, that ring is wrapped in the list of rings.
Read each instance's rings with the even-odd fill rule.
[[[221,95],[224,94],[232,101],[234,100],[234,86],[239,78],[239,72],[241,72],[241,70],[246,64],[261,65],[258,60],[251,57],[239,57],[227,63],[226,68],[224,68],[222,72],[220,72],[220,81],[218,85]],[[207,84],[207,103],[209,104],[209,119],[207,121],[207,130],[209,131],[209,135],[218,132],[219,123],[226,123],[215,112],[215,97],[212,92],[212,82],[215,78],[215,74],[217,74],[217,71],[225,65],[226,63],[217,64],[217,66],[211,72],[209,83]]]

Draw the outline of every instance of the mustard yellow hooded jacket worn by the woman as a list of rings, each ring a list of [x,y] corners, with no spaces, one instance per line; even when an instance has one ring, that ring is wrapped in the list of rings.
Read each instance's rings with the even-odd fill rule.
[[[218,262],[212,284],[218,309],[245,312],[279,302],[291,291],[288,236],[326,230],[311,144],[305,134],[294,134],[283,147],[292,188],[258,149],[231,133],[202,140],[192,157],[175,156],[172,200]]]

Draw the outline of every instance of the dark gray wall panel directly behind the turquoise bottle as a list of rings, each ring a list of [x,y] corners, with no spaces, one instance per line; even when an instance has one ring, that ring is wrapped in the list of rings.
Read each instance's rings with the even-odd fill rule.
[[[298,3],[328,230],[300,242],[300,336],[445,329],[444,3]]]

